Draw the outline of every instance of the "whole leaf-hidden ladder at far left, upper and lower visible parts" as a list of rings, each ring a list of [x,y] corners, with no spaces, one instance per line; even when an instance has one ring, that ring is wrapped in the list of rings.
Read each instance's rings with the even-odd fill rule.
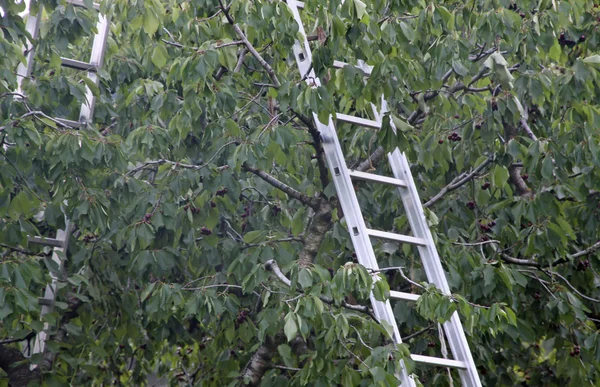
[[[32,0],[31,3],[33,3]],[[67,3],[72,4],[77,7],[85,7],[85,4],[82,0],[67,0]],[[30,7],[33,4],[30,4]],[[24,94],[22,83],[25,78],[28,78],[31,75],[33,68],[33,59],[35,56],[35,46],[34,41],[37,40],[39,29],[40,29],[40,20],[42,17],[43,6],[39,4],[39,11],[37,15],[29,14],[27,17],[27,32],[31,35],[32,41],[28,41],[24,47],[25,53],[25,64],[19,64],[17,68],[17,97],[18,98],[26,98]],[[93,8],[97,11],[100,10],[100,5],[97,3],[93,4]],[[109,31],[109,21],[108,18],[98,12],[98,22],[96,24],[97,33],[94,35],[94,43],[92,45],[92,53],[89,62],[82,62],[75,59],[70,58],[60,58],[61,65],[63,67],[72,68],[79,71],[87,72],[88,78],[96,85],[99,83],[98,70],[102,66],[102,62],[104,60],[104,53],[106,51],[106,43],[108,39],[108,31]],[[86,100],[81,104],[81,110],[79,113],[79,121],[72,121],[64,118],[54,118],[55,121],[59,122],[65,127],[70,128],[83,128],[91,123],[93,115],[94,115],[94,107],[96,104],[96,97],[92,90],[86,86]],[[66,219],[66,217],[65,217]],[[44,297],[40,299],[40,304],[42,306],[41,309],[41,317],[52,313],[54,310],[54,302],[56,300],[56,290],[57,284],[60,280],[59,276],[64,268],[64,258],[67,252],[67,248],[69,245],[69,236],[71,233],[71,227],[68,219],[65,222],[65,230],[58,230],[56,238],[43,238],[43,237],[29,237],[29,243],[41,244],[44,246],[53,247],[52,252],[52,261],[57,266],[57,272],[51,272],[50,277],[52,281],[46,286],[46,290],[44,292]],[[26,348],[25,355],[31,355],[36,353],[43,353],[45,342],[48,337],[48,324],[44,324],[44,330],[39,332],[33,343],[33,348]],[[32,368],[35,368],[35,365],[32,365]]]

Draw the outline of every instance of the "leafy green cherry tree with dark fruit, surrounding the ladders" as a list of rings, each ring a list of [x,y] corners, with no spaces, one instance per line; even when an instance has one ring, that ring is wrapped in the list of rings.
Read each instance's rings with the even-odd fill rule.
[[[439,355],[436,322],[454,310],[486,385],[598,379],[594,2],[307,0],[326,80],[313,89],[284,2],[106,1],[109,49],[81,129],[51,117],[77,117],[85,77],[59,57],[85,60],[96,14],[44,3],[26,98],[14,94],[24,4],[2,3],[3,385],[393,385],[408,348]],[[348,165],[385,174],[385,153],[406,152],[451,298],[420,289],[408,246],[375,245],[382,267],[403,270],[355,262],[309,117],[368,117],[381,94],[381,130],[338,125]],[[372,227],[409,231],[394,190],[356,190]],[[64,215],[51,340],[26,359],[56,269],[27,235],[52,236]],[[423,294],[394,304],[406,345],[371,316],[373,275],[378,297]],[[458,382],[407,364],[424,385]]]

